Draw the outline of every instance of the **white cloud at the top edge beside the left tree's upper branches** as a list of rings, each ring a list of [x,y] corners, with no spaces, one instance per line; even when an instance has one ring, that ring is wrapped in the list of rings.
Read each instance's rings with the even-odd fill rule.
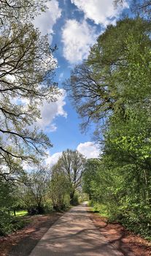
[[[53,26],[58,18],[61,18],[61,8],[58,6],[58,1],[47,1],[46,12],[42,12],[34,19],[34,26],[40,29],[42,35],[53,34]]]

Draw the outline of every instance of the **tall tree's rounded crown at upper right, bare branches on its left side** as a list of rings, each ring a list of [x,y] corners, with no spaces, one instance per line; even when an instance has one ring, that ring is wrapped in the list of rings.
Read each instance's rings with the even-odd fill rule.
[[[134,45],[140,58],[134,56]],[[136,97],[140,99],[140,91],[146,93],[139,83],[132,84],[128,78],[133,73],[133,65],[139,73],[150,64],[150,54],[146,59],[147,52],[150,52],[150,23],[141,18],[119,20],[116,26],[108,26],[98,37],[88,60],[77,65],[64,83],[71,102],[82,117],[82,127],[85,128],[90,121],[98,124],[104,117],[107,120],[116,110],[124,111],[125,99],[127,103],[133,102]],[[135,58],[138,59],[135,61]],[[149,86],[150,70],[144,69],[143,72],[148,72],[145,78],[148,79],[146,86]]]

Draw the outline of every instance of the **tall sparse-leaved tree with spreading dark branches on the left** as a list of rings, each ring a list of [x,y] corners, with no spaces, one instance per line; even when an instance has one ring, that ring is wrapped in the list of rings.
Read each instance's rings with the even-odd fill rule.
[[[44,1],[0,3],[0,175],[8,178],[23,160],[36,161],[35,154],[52,146],[35,121],[43,99],[54,101],[58,89],[53,49],[31,23]]]

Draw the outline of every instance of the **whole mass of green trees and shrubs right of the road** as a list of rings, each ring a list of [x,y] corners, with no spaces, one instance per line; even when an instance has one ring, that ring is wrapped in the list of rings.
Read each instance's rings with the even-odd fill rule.
[[[135,1],[132,7],[133,17],[107,26],[88,59],[71,70],[64,88],[82,129],[96,124],[93,138],[101,148],[99,159],[86,164],[84,191],[93,204],[107,209],[111,220],[149,238],[151,2]]]

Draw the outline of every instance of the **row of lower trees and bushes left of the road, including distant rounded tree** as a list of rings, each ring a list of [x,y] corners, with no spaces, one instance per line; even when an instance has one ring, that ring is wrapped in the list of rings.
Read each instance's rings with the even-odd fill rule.
[[[1,179],[0,236],[15,230],[17,211],[26,210],[28,215],[46,214],[76,206],[82,194],[85,162],[80,152],[67,149],[55,165],[41,163],[28,170],[22,182]]]

